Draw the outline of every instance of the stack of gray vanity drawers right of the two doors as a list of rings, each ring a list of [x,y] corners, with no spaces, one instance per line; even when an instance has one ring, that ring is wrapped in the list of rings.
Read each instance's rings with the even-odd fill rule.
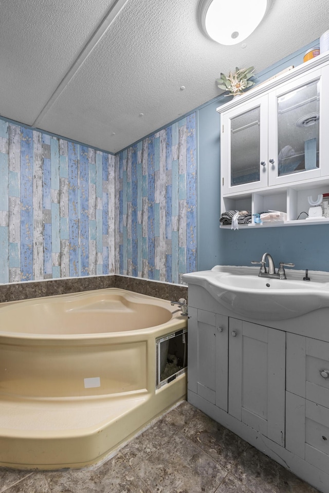
[[[329,343],[287,333],[286,448],[329,470]]]

